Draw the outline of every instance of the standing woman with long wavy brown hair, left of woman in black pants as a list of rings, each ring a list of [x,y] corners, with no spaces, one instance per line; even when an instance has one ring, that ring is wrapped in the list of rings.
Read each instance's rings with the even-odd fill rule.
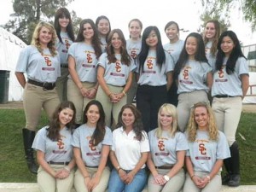
[[[98,65],[97,79],[100,87],[96,99],[102,102],[107,125],[114,126],[120,109],[127,102],[126,93],[131,87],[132,71],[135,67],[127,53],[121,30],[113,29],[109,33],[107,52],[101,55]]]

